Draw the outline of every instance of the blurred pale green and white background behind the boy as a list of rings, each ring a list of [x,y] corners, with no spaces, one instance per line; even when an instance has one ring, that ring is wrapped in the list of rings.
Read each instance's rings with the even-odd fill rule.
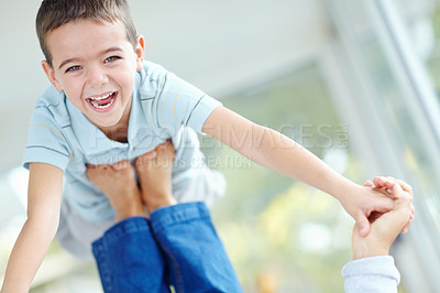
[[[440,292],[440,1],[129,0],[146,58],[295,139],[363,184],[393,175],[417,219],[393,247],[400,292]],[[40,1],[0,9],[0,276],[25,220],[21,167],[48,86]],[[245,292],[342,292],[353,220],[332,197],[200,138],[229,183],[213,218]],[[354,195],[353,195],[354,196]],[[31,292],[102,292],[94,263],[53,242]]]

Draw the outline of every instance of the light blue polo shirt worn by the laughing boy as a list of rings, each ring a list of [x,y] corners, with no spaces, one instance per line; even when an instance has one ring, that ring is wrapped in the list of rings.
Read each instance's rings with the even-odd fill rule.
[[[23,165],[47,163],[65,174],[63,196],[89,221],[112,220],[106,196],[86,175],[86,163],[133,161],[172,139],[173,188],[197,184],[190,170],[206,165],[195,132],[221,104],[162,66],[145,62],[136,73],[128,143],[112,141],[65,96],[50,87],[35,102]]]

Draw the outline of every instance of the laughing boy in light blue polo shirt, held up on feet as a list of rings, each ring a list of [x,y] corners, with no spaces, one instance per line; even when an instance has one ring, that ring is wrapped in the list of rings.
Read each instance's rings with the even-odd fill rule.
[[[208,195],[210,202],[222,194],[222,177],[200,163],[194,131],[334,196],[364,236],[369,215],[393,207],[391,198],[337,174],[290,139],[144,62],[144,39],[136,36],[124,0],[45,0],[36,30],[53,87],[38,98],[32,117],[24,155],[28,220],[8,263],[6,292],[29,290],[58,224],[59,242],[81,257],[113,224],[114,211],[88,180],[86,164],[132,162],[172,139],[176,199]]]

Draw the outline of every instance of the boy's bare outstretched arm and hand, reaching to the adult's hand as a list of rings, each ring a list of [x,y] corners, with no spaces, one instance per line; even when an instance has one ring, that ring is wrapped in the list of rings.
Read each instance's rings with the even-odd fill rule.
[[[292,139],[224,107],[216,108],[202,131],[255,163],[334,196],[358,221],[363,236],[369,234],[372,211],[385,213],[393,207],[393,199],[380,191],[349,181]]]

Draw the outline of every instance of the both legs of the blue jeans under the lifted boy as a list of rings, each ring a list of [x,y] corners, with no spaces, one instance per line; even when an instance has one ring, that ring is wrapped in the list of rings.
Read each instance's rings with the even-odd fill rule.
[[[92,251],[105,292],[243,292],[204,203],[124,219]]]

